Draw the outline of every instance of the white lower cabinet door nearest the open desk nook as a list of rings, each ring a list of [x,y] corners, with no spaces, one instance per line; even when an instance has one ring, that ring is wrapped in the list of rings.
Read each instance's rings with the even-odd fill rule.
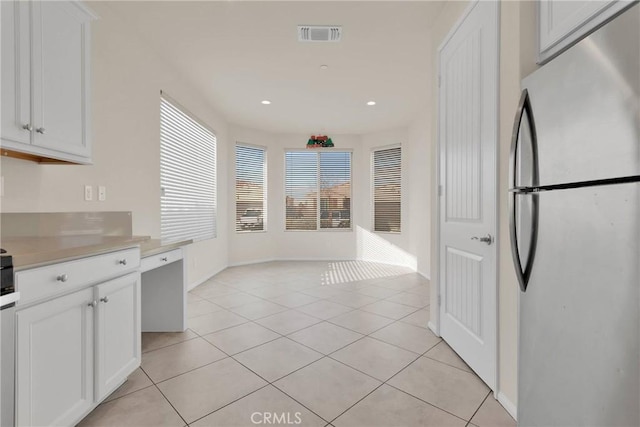
[[[96,400],[140,366],[140,273],[96,286]]]

